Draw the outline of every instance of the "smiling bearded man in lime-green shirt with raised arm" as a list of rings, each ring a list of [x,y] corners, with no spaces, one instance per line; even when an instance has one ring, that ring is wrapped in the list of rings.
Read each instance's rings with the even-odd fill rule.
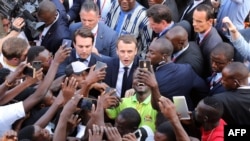
[[[139,127],[147,125],[155,131],[157,111],[151,105],[151,89],[143,83],[138,83],[138,73],[139,71],[136,70],[133,76],[135,94],[131,97],[123,98],[118,107],[106,109],[106,114],[109,118],[115,119],[123,109],[135,108],[141,116]]]

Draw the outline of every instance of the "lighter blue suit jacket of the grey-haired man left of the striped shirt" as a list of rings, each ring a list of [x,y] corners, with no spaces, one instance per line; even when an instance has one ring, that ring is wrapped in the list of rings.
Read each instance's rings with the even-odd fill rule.
[[[82,23],[75,23],[70,26],[70,32],[73,33],[82,27]],[[103,22],[98,23],[96,44],[98,52],[103,55],[104,58],[116,57],[116,41],[118,34]]]

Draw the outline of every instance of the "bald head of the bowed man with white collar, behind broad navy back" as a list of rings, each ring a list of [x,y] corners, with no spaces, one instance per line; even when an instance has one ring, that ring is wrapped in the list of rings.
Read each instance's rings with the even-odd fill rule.
[[[166,38],[172,42],[174,52],[178,52],[188,45],[188,33],[182,26],[174,26],[170,29]]]

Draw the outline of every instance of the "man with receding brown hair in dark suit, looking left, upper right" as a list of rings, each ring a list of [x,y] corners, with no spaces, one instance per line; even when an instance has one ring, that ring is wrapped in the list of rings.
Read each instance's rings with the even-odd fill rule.
[[[212,74],[210,67],[210,53],[215,46],[222,42],[222,39],[213,27],[212,7],[207,4],[201,4],[194,10],[193,27],[197,33],[197,43],[200,46],[204,58],[205,77]]]

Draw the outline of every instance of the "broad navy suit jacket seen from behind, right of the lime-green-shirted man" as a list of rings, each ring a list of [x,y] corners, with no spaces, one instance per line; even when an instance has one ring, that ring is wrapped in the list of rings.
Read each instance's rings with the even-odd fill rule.
[[[208,95],[206,82],[189,64],[167,63],[156,69],[155,77],[162,96],[173,100],[173,96],[185,96],[189,110]]]

